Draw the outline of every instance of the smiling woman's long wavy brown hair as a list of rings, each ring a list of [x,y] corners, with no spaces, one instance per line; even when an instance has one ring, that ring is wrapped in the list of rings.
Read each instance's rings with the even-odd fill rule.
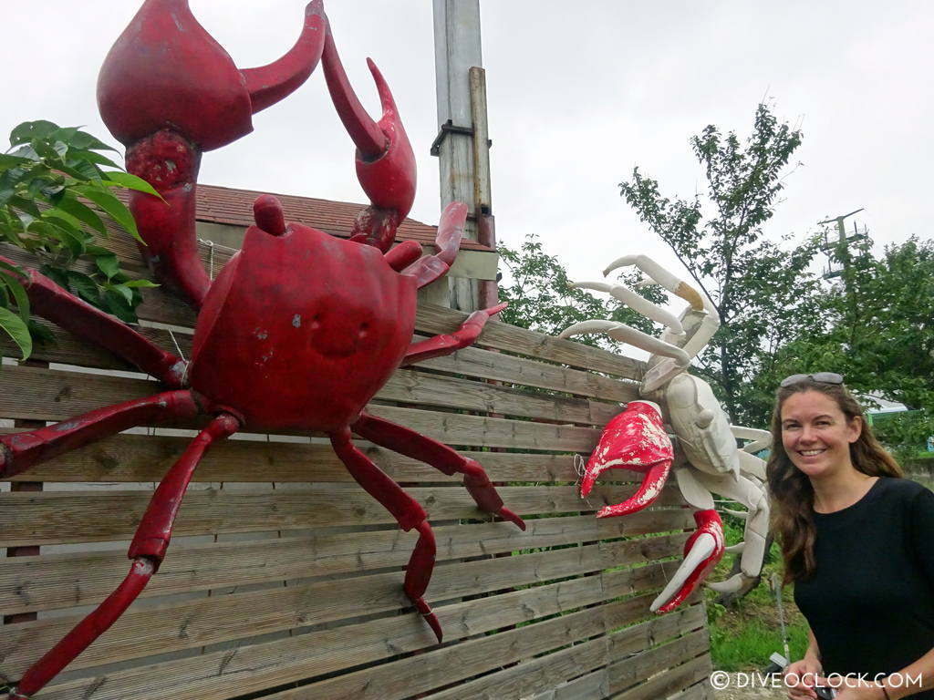
[[[863,409],[844,385],[825,384],[807,378],[779,388],[775,411],[771,416],[771,454],[766,467],[771,491],[772,532],[782,545],[785,583],[802,581],[814,575],[814,488],[785,453],[782,443],[782,406],[793,394],[817,391],[833,399],[846,416],[847,423],[858,418],[862,430],[850,444],[850,459],[858,471],[869,476],[902,476],[899,463],[885,452],[872,434]]]

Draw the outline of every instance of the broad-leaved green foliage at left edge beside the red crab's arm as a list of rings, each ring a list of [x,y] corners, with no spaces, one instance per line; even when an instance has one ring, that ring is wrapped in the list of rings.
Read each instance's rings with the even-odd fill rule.
[[[114,253],[95,245],[95,234],[107,235],[99,212],[139,239],[133,216],[112,189],[159,195],[145,180],[122,172],[101,153],[114,148],[77,127],[29,121],[16,127],[9,141],[9,150],[0,154],[0,242],[34,253],[44,261],[42,272],[59,285],[134,322],[134,308],[142,301],[139,287],[153,285],[131,280],[120,271]],[[69,269],[79,258],[92,260],[91,273]],[[16,266],[0,262],[0,329],[25,359],[41,327],[29,321],[21,273]]]

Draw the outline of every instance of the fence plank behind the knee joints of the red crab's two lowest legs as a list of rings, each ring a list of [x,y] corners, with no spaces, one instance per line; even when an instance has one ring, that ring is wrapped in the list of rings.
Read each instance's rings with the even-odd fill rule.
[[[643,511],[626,518],[592,515],[536,518],[525,532],[503,523],[434,528],[437,561],[633,537],[690,528],[686,509]],[[173,546],[143,597],[235,588],[366,570],[404,567],[415,539],[397,528],[302,538]],[[0,560],[5,614],[91,605],[126,574],[122,551],[45,554]]]

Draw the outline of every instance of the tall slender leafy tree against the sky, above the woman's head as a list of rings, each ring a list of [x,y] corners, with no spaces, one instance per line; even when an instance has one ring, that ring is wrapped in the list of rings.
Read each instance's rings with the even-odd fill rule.
[[[773,386],[754,380],[771,368],[778,348],[796,337],[801,318],[810,318],[814,309],[817,281],[808,266],[816,239],[782,246],[765,239],[763,231],[801,138],[768,105],[758,105],[744,143],[713,124],[693,136],[690,145],[707,181],[708,217],[700,194],[690,200],[664,197],[658,182],[638,167],[619,185],[639,218],[715,303],[720,329],[701,352],[696,371],[736,423],[767,422]],[[781,241],[788,244],[788,237]]]

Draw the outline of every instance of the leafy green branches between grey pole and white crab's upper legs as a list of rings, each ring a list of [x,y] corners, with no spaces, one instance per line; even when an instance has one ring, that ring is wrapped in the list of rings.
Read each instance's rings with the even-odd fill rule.
[[[644,316],[612,298],[603,300],[584,289],[572,287],[568,273],[557,258],[545,253],[535,234],[527,236],[517,250],[501,244],[499,253],[510,277],[508,284],[500,285],[500,301],[509,302],[502,312],[502,320],[506,323],[558,335],[578,321],[597,318],[650,332],[651,322]],[[622,279],[622,284],[631,287],[636,281],[636,276],[630,274]],[[664,294],[658,287],[641,291],[650,301],[664,302]],[[619,343],[602,335],[578,336],[574,340],[604,349],[619,348]]]

